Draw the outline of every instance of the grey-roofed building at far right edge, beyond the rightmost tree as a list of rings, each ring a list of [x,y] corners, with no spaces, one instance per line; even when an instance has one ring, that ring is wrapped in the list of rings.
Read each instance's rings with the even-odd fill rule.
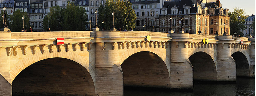
[[[247,37],[249,35],[249,31],[251,33],[254,33],[255,30],[253,30],[253,27],[251,26],[252,22],[255,20],[255,15],[251,15],[251,16],[246,16],[245,18],[245,27],[246,29],[243,30],[243,33],[244,33],[244,37]],[[251,34],[252,35],[252,34]]]

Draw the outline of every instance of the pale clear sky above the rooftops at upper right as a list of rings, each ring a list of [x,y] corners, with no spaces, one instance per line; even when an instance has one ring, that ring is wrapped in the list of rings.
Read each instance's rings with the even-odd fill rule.
[[[228,8],[229,12],[233,12],[233,8],[245,10],[245,15],[255,15],[255,0],[220,0],[222,8]]]

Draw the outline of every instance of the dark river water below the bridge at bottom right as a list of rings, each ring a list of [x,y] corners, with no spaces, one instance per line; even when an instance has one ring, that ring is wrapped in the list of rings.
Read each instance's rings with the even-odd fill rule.
[[[124,96],[254,96],[254,79],[237,78],[236,84],[194,83],[193,92],[125,89]]]

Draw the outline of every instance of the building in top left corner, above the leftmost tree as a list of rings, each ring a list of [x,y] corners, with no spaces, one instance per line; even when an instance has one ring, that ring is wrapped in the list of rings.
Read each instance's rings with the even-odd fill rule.
[[[14,10],[13,10],[13,8],[14,8],[14,0],[4,0],[3,2],[1,2],[1,11],[3,11],[3,7],[6,7],[6,13],[8,14],[8,15],[10,15],[10,14],[13,14],[13,12],[14,12]]]

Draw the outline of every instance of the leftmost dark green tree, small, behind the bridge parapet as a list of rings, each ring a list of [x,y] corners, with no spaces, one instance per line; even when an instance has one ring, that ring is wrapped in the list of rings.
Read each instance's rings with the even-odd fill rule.
[[[29,24],[29,16],[27,12],[23,10],[16,10],[13,12],[13,15],[10,15],[10,25],[7,25],[10,31],[12,32],[21,32],[23,28],[22,17],[24,18],[24,29],[33,28],[32,25]]]

